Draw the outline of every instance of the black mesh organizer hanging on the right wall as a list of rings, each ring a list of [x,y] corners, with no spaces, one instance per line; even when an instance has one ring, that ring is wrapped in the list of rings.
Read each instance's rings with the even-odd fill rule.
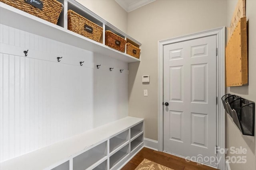
[[[255,103],[240,96],[225,94],[222,103],[243,135],[254,136]]]

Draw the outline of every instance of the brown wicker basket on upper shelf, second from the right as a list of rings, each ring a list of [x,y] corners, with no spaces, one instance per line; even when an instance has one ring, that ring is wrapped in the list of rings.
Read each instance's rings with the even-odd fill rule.
[[[105,45],[124,53],[126,40],[112,33],[111,31],[105,31]]]

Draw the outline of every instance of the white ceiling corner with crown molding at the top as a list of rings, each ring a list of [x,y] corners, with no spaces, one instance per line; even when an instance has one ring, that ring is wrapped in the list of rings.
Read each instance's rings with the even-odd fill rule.
[[[136,10],[146,4],[154,2],[155,0],[115,0],[126,12]]]

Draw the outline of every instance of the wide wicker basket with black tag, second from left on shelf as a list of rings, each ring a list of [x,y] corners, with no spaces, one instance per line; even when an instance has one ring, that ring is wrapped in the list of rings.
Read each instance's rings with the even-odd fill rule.
[[[68,10],[68,29],[98,42],[103,32],[102,27],[72,10]]]

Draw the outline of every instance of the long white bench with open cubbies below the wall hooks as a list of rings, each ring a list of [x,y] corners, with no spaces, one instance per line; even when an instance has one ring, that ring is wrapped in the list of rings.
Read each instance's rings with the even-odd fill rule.
[[[131,138],[133,129],[140,132]],[[1,162],[0,169],[118,170],[144,147],[143,141],[144,119],[125,117]]]

